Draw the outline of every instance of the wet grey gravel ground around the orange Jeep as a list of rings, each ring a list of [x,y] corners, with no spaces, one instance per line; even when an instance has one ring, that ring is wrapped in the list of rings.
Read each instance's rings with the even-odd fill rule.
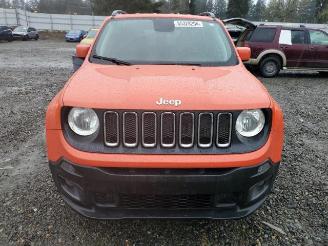
[[[316,72],[260,78],[284,111],[285,138],[273,191],[252,216],[95,221],[71,211],[48,168],[45,113],[73,73],[75,45],[0,42],[0,245],[328,245],[328,79]]]

